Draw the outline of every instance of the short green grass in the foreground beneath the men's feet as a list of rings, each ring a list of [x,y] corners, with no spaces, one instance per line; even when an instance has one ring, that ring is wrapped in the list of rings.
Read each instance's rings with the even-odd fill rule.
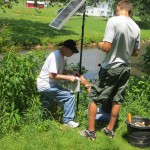
[[[83,127],[70,129],[53,121],[49,121],[49,125],[47,131],[40,131],[36,125],[24,126],[21,132],[1,138],[0,148],[1,150],[140,150],[128,143],[125,122],[117,128],[115,139],[112,140],[97,131],[96,141],[80,136]]]

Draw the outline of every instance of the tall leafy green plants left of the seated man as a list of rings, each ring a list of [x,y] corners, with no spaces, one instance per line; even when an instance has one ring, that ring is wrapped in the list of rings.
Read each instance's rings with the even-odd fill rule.
[[[1,132],[20,125],[20,118],[29,108],[30,111],[32,108],[32,112],[37,110],[36,77],[43,59],[45,60],[45,52],[20,55],[10,51],[3,55],[0,63]]]

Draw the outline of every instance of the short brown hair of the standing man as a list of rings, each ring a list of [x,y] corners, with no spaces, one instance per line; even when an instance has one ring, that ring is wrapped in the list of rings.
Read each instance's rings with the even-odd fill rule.
[[[128,11],[130,16],[132,15],[132,3],[129,0],[121,0],[117,6]]]

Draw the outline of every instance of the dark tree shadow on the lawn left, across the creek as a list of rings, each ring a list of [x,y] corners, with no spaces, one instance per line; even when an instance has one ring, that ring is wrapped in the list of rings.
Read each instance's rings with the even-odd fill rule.
[[[69,27],[56,30],[47,23],[32,22],[30,20],[0,19],[8,24],[11,39],[15,44],[21,45],[42,45],[44,42],[51,43],[51,39],[58,36],[77,35]],[[43,39],[43,40],[42,40]]]

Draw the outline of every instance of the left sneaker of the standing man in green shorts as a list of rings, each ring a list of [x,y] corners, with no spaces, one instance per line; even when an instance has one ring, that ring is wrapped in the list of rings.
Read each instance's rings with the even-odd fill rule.
[[[81,136],[87,137],[87,138],[89,138],[92,141],[96,140],[96,133],[95,133],[95,131],[89,131],[88,129],[86,129],[86,130],[83,130],[80,134],[81,134]]]

